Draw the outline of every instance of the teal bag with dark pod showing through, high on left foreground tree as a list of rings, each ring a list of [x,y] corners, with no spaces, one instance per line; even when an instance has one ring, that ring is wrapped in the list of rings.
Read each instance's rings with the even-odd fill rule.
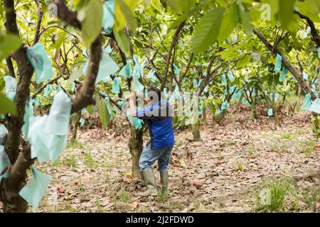
[[[28,61],[31,63],[36,72],[36,83],[51,79],[53,77],[53,69],[46,49],[41,43],[36,43],[32,48],[26,50]]]

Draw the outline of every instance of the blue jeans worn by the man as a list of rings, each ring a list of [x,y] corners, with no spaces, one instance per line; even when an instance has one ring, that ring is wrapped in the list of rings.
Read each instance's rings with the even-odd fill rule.
[[[140,170],[143,171],[151,169],[156,160],[158,160],[159,171],[168,170],[172,148],[174,147],[154,150],[151,148],[150,144],[146,145],[144,150],[142,150],[139,160]]]

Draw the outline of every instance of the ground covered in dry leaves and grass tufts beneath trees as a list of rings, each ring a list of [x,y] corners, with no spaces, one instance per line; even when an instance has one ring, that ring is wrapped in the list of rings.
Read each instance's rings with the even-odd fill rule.
[[[176,131],[170,194],[152,198],[137,195],[145,187],[130,174],[127,122],[117,121],[117,133],[80,131],[57,162],[37,164],[53,176],[38,212],[320,211],[320,143],[310,113],[283,116],[279,127],[235,107],[222,125],[208,118],[201,142]]]

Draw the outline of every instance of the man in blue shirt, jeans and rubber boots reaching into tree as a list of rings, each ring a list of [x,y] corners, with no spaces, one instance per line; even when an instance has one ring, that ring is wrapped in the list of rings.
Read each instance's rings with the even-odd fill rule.
[[[161,178],[161,193],[168,192],[168,166],[172,148],[174,148],[174,126],[172,125],[173,110],[169,101],[161,100],[159,89],[151,88],[147,92],[146,107],[136,109],[136,96],[130,96],[130,111],[133,117],[144,120],[148,127],[150,140],[142,150],[139,160],[140,170],[148,189],[140,196],[157,195],[156,178],[152,165],[158,160]]]

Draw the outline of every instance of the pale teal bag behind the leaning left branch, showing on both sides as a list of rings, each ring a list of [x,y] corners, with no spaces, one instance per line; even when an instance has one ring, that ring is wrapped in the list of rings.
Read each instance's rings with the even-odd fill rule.
[[[83,67],[83,74],[85,75],[87,70],[89,70],[89,63],[90,60],[87,60],[87,62],[85,63],[85,67]],[[114,62],[114,60],[112,60],[107,50],[103,50],[97,79],[95,79],[95,84],[99,83],[100,81],[109,82],[111,80],[110,75],[113,75],[118,70],[118,65]]]

